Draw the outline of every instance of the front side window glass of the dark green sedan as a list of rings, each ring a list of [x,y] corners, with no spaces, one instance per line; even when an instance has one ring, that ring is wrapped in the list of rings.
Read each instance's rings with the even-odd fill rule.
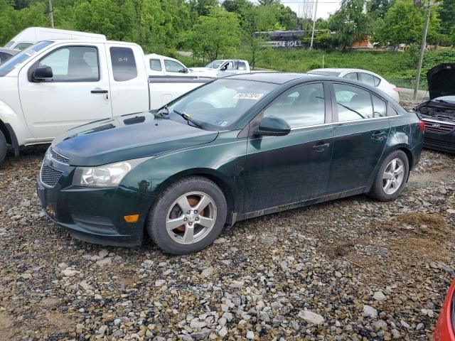
[[[264,117],[279,117],[291,128],[323,124],[326,116],[322,83],[306,84],[280,95],[267,109]]]

